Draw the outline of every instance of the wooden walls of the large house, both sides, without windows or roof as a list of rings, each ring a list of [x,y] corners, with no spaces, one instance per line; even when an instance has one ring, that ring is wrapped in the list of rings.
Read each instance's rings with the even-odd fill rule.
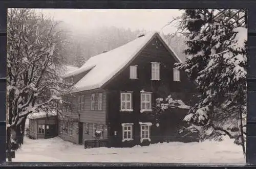
[[[121,55],[121,54],[120,54]],[[151,80],[151,62],[160,63],[160,80]],[[185,125],[183,118],[188,110],[174,109],[164,112],[156,119],[154,108],[157,98],[166,98],[171,94],[174,99],[181,99],[186,105],[192,105],[196,100],[196,84],[188,80],[184,72],[180,72],[180,81],[173,80],[174,64],[178,60],[157,34],[123,69],[110,79],[101,89],[74,93],[71,102],[72,109],[67,112],[69,116],[77,118],[77,131],[72,142],[79,140],[96,139],[93,134],[93,124],[104,126],[102,139],[109,139],[112,147],[132,147],[135,144],[144,144],[140,140],[140,122],[152,123],[150,126],[151,143],[163,141],[195,141],[195,136],[184,136],[179,130]],[[130,79],[130,66],[137,65],[137,79]],[[86,75],[86,73],[79,74]],[[78,81],[79,77],[74,77]],[[140,112],[141,91],[152,92],[153,111]],[[133,111],[120,111],[120,93],[132,92]],[[103,93],[102,110],[91,110],[91,94]],[[85,95],[84,109],[77,110],[78,95]],[[78,116],[77,116],[78,115]],[[89,133],[84,126],[89,123]],[[133,124],[133,140],[122,141],[122,125]],[[59,134],[61,135],[61,134]],[[65,137],[62,137],[65,138]],[[74,141],[75,140],[75,141]]]

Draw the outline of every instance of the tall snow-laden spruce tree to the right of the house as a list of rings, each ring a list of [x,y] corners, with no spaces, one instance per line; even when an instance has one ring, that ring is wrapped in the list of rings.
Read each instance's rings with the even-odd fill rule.
[[[198,83],[200,102],[184,118],[201,139],[234,138],[245,154],[247,26],[244,10],[184,10],[178,32],[187,59],[176,64]]]

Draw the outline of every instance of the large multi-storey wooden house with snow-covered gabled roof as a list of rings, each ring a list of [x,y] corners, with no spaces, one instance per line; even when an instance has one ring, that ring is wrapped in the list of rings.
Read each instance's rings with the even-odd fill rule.
[[[174,68],[184,60],[157,32],[91,57],[64,76],[75,89],[63,96],[71,105],[58,117],[59,136],[80,144],[104,139],[112,147],[189,141],[178,131],[187,109],[155,116],[157,98],[171,94],[187,105],[195,102],[195,83]]]

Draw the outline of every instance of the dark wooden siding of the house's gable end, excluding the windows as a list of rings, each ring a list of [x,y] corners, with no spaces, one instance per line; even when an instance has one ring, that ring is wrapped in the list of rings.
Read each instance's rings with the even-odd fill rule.
[[[160,63],[160,80],[151,80],[151,62]],[[166,126],[162,122],[162,127],[156,127],[156,119],[152,116],[153,112],[140,112],[140,94],[141,90],[152,92],[152,108],[156,106],[157,98],[165,98],[167,95],[172,94],[175,99],[181,99],[185,104],[191,105],[195,103],[197,96],[196,85],[191,82],[187,75],[181,71],[180,81],[173,80],[173,67],[176,63],[175,58],[168,52],[163,43],[154,38],[135,58],[130,65],[138,65],[137,75],[138,79],[130,79],[130,65],[128,65],[119,75],[105,85],[108,94],[108,121],[110,122],[109,136],[112,146],[125,147],[127,142],[121,142],[122,138],[122,123],[133,123],[134,126],[134,141],[129,145],[140,143],[140,125],[139,122],[151,122],[152,135],[156,138],[165,136],[177,135],[177,127],[184,125],[180,116],[173,117],[165,116],[167,120],[173,123],[171,126]],[[132,91],[132,112],[120,112],[120,92]],[[182,112],[185,116],[188,110],[177,110]],[[178,126],[177,126],[178,125]],[[165,126],[165,129],[163,127]],[[176,126],[176,127],[175,127]],[[159,129],[165,133],[161,133]],[[166,131],[167,130],[167,131]],[[117,135],[115,135],[115,132]],[[161,135],[159,135],[161,133]],[[166,134],[167,133],[167,134]],[[186,139],[186,138],[184,138]],[[154,142],[154,141],[153,141]]]

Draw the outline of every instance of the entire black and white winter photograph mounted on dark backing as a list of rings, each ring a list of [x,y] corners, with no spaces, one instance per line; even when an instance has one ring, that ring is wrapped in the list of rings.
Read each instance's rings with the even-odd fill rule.
[[[6,161],[245,164],[247,11],[7,16]]]

